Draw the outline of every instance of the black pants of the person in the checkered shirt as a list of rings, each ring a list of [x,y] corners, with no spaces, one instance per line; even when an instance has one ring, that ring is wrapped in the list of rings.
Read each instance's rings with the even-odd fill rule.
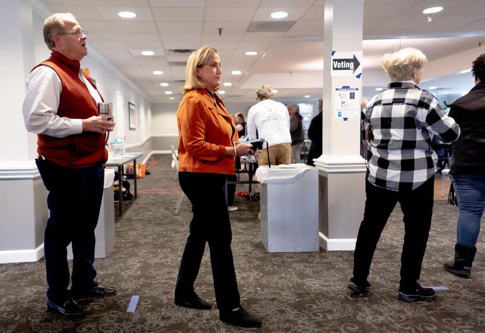
[[[420,278],[433,214],[434,179],[419,188],[393,191],[372,185],[366,180],[364,220],[360,224],[354,253],[354,277],[369,276],[372,256],[381,232],[397,202],[404,213],[404,245],[401,254],[401,288],[414,287]]]

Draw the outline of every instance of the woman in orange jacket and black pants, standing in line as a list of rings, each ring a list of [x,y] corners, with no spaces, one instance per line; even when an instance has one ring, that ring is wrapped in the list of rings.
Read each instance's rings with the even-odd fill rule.
[[[236,169],[236,158],[253,151],[250,143],[234,145],[239,141],[236,125],[216,94],[221,75],[221,59],[215,48],[206,45],[190,55],[182,88],[185,95],[177,110],[178,180],[192,203],[193,217],[180,260],[175,303],[201,310],[212,307],[194,290],[208,243],[219,319],[240,327],[260,327],[261,320],[241,306],[224,194],[227,176]]]

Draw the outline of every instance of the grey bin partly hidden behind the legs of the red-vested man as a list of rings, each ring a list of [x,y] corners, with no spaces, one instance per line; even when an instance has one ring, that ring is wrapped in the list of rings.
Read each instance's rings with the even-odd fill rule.
[[[114,246],[114,169],[104,169],[104,191],[94,234],[95,258],[105,258]],[[72,259],[72,243],[67,246],[67,259]]]

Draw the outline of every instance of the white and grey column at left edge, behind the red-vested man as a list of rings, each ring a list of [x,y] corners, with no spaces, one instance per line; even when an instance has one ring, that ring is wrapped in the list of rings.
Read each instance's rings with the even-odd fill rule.
[[[33,28],[32,3],[3,1],[0,11],[0,263],[44,255],[47,190],[34,163],[37,137],[27,132],[22,117],[25,79],[35,65],[35,40],[42,36],[42,27]]]

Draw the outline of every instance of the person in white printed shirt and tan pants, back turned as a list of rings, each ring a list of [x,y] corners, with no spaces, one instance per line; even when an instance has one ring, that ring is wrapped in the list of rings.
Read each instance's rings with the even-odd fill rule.
[[[273,88],[262,85],[256,91],[258,104],[247,114],[249,140],[264,139],[269,145],[271,165],[291,163],[290,115],[282,103],[273,100]],[[258,164],[268,165],[267,148],[260,151]]]

